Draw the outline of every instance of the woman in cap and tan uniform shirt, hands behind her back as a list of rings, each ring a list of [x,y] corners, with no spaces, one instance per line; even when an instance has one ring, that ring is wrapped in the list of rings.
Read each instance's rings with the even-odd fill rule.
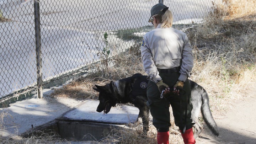
[[[148,22],[155,29],[144,35],[141,44],[143,68],[149,79],[147,105],[157,129],[158,144],[169,144],[170,105],[184,143],[194,144],[188,81],[193,68],[192,47],[185,33],[172,28],[172,12],[168,9],[160,3],[151,8]]]

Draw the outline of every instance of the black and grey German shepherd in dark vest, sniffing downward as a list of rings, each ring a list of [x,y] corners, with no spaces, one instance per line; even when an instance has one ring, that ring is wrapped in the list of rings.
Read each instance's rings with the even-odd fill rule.
[[[105,114],[110,111],[112,106],[116,106],[117,103],[132,103],[135,107],[139,108],[139,117],[142,118],[143,123],[143,133],[146,134],[149,130],[149,108],[146,105],[148,101],[146,95],[148,80],[146,77],[138,73],[115,82],[111,81],[110,84],[104,86],[95,85],[96,88],[93,89],[99,92],[98,98],[100,101],[96,111],[103,111]],[[209,129],[214,135],[218,136],[218,127],[209,108],[209,97],[206,90],[192,80],[189,80],[189,82],[193,105],[191,118],[195,123],[193,126],[194,138],[197,138],[203,130],[198,121],[200,110]]]

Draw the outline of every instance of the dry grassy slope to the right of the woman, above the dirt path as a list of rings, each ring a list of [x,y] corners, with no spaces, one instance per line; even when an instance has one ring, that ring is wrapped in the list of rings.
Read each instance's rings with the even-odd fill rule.
[[[213,110],[227,108],[256,80],[255,6],[255,0],[213,3],[205,22],[187,30],[194,49],[192,80],[208,91]]]

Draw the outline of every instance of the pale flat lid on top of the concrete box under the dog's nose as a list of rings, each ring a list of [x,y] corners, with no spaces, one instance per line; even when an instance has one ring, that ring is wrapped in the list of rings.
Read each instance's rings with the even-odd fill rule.
[[[60,119],[110,124],[134,123],[138,119],[139,109],[136,107],[126,105],[112,107],[109,113],[103,114],[96,111],[98,104],[98,100],[86,100],[66,112]]]

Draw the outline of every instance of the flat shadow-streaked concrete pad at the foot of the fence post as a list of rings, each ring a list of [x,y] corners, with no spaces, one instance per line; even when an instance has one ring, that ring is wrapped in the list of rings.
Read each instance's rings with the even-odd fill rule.
[[[0,132],[4,131],[2,135],[4,137],[20,135],[28,130],[54,121],[79,103],[78,100],[72,98],[49,96],[41,99],[33,96],[26,100],[11,103],[10,107],[0,108],[0,114],[4,114],[3,128],[0,129]]]

